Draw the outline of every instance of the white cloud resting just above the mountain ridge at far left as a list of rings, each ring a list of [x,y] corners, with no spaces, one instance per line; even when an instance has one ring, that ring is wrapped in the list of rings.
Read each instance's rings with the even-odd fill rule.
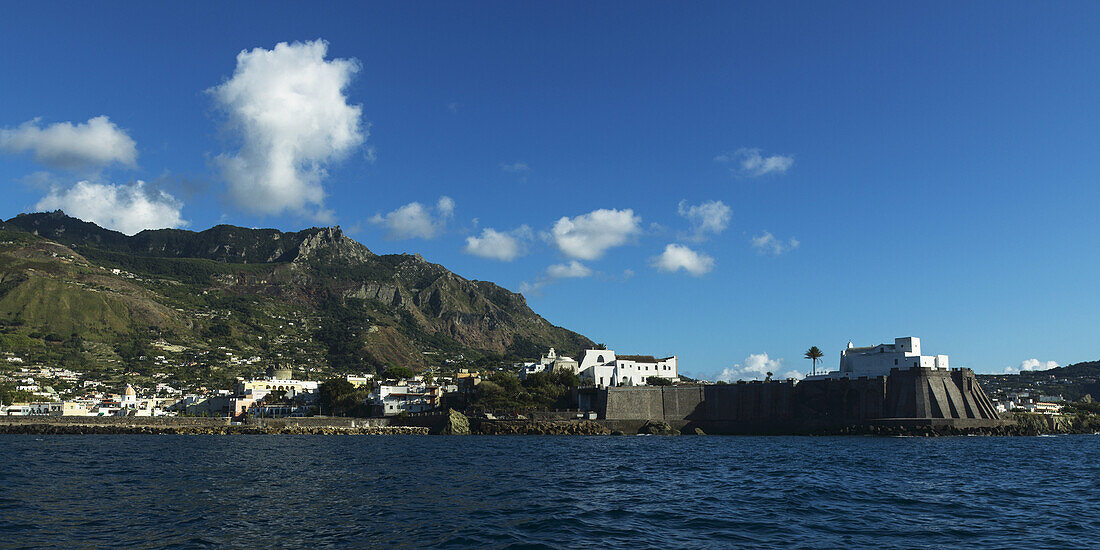
[[[65,210],[65,213],[107,229],[132,235],[143,229],[179,228],[183,204],[164,191],[145,189],[144,182],[131,185],[79,182],[70,188],[54,188],[35,209]]]

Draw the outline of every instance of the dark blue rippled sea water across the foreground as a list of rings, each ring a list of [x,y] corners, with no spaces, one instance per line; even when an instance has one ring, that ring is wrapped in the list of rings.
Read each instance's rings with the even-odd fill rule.
[[[1100,437],[0,436],[0,547],[1097,548]]]

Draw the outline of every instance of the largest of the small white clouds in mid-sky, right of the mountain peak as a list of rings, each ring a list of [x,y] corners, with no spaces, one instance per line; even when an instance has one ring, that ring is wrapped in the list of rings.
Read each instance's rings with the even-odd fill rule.
[[[641,217],[634,210],[600,209],[575,218],[561,218],[550,230],[550,240],[566,256],[597,260],[614,246],[641,232]]]

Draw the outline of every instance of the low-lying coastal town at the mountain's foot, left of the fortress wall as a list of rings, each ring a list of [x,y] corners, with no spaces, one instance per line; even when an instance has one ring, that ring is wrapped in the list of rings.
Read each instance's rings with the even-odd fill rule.
[[[161,346],[166,346],[161,343]],[[155,359],[167,364],[164,355]],[[260,364],[260,358],[238,360]],[[304,380],[286,365],[273,366],[263,376],[238,377],[233,387],[189,387],[187,381],[169,380],[154,373],[148,386],[124,384],[109,387],[82,373],[41,364],[26,364],[7,353],[0,364],[0,385],[13,388],[8,403],[0,405],[0,416],[210,416],[243,419],[332,416],[344,410],[326,410],[326,389],[339,385],[358,391],[361,416],[396,416],[427,413],[470,396],[490,371],[496,380],[514,376],[527,381],[542,373],[564,373],[576,377],[576,385],[592,387],[675,384],[676,356],[616,355],[613,350],[586,350],[581,361],[560,355],[551,348],[538,361],[501,365],[490,371],[453,369],[414,374],[406,367],[392,367],[382,374],[345,373],[324,381]],[[136,373],[133,373],[136,374]],[[493,386],[488,382],[486,388]],[[0,395],[2,397],[2,395]]]

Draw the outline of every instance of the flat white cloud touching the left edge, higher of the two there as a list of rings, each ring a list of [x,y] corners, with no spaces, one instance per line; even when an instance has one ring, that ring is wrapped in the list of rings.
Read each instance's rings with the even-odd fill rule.
[[[38,119],[16,128],[0,129],[0,151],[32,152],[34,160],[50,168],[98,168],[111,163],[134,166],[136,144],[107,117],[73,124],[56,122],[45,128]]]

